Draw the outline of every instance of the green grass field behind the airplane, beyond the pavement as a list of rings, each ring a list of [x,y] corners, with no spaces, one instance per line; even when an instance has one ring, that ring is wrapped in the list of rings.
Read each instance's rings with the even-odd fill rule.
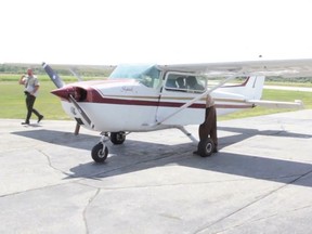
[[[17,80],[20,76],[11,77],[11,81],[0,81],[0,118],[24,119],[26,115],[24,87],[20,86]],[[75,78],[68,77],[68,80]],[[10,80],[10,79],[8,79]],[[14,81],[12,81],[14,80]],[[35,103],[35,108],[44,115],[44,119],[64,120],[69,119],[64,113],[60,99],[50,92],[55,89],[54,84],[47,78],[40,77],[40,92]],[[274,83],[276,84],[276,83]],[[289,83],[288,83],[289,86]],[[312,108],[312,92],[284,91],[284,90],[264,90],[263,100],[274,101],[294,101],[302,100],[306,108]],[[268,115],[280,112],[289,112],[292,109],[272,109],[256,107],[253,109],[242,110],[229,116],[220,117],[219,120],[244,118],[249,116]],[[35,116],[32,116],[35,118]]]

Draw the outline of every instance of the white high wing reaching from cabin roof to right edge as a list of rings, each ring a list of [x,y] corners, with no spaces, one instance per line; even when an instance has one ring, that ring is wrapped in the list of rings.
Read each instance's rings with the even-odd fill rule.
[[[220,62],[200,64],[160,65],[164,70],[179,70],[205,74],[208,77],[225,77],[243,74],[246,76],[281,76],[287,78],[312,76],[312,60],[271,60]]]

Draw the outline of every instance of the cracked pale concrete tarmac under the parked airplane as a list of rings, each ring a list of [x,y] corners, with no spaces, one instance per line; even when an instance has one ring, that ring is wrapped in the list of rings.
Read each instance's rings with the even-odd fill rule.
[[[312,109],[219,121],[207,158],[176,129],[131,133],[105,164],[99,133],[21,121],[0,120],[0,233],[312,233]]]

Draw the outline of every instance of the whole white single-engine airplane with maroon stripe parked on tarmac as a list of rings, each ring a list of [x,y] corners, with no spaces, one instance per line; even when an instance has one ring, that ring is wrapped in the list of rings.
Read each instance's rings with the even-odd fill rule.
[[[91,151],[94,161],[107,158],[105,144],[122,144],[129,132],[178,128],[196,141],[183,126],[200,125],[206,99],[214,99],[217,114],[225,115],[258,105],[300,107],[300,101],[262,101],[265,76],[308,77],[312,60],[249,61],[230,63],[117,66],[107,79],[65,84],[46,63],[42,64],[57,87],[64,110],[77,125],[100,131],[101,140]],[[213,78],[219,77],[218,81]],[[242,78],[240,83],[234,82]],[[231,81],[231,82],[230,82]],[[199,148],[200,145],[200,148]],[[209,156],[213,142],[199,142],[200,156]]]

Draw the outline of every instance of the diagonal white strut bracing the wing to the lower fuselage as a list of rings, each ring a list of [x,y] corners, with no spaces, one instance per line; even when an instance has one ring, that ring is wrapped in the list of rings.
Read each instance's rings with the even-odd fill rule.
[[[164,121],[168,120],[169,118],[171,118],[172,116],[177,115],[178,113],[180,113],[181,110],[187,108],[188,106],[193,105],[195,102],[197,102],[198,100],[203,99],[204,96],[207,96],[208,94],[210,94],[211,92],[213,92],[214,90],[219,89],[220,87],[222,87],[224,83],[229,82],[230,80],[235,79],[238,76],[243,76],[243,73],[239,74],[235,74],[233,76],[227,77],[226,79],[220,81],[217,86],[212,87],[211,89],[207,89],[204,93],[197,95],[196,98],[194,98],[193,100],[191,100],[190,102],[185,103],[184,105],[180,106],[179,109],[177,109],[174,113],[168,115],[167,117],[160,119],[159,121],[156,121],[156,123],[154,123],[153,126],[157,126],[157,125],[161,125]]]

